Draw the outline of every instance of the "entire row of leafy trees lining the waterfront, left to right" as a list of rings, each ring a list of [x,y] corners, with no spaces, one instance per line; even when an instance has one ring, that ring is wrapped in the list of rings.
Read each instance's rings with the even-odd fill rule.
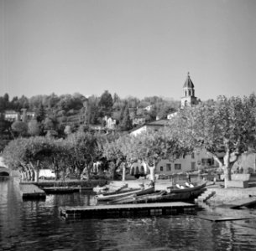
[[[220,96],[216,101],[185,107],[161,131],[111,137],[78,131],[65,140],[19,138],[6,147],[3,156],[8,166],[22,170],[24,166],[38,170],[46,161],[53,169],[73,168],[77,172],[87,166],[88,173],[91,163],[99,159],[112,163],[107,165],[112,172],[123,163],[142,160],[154,180],[154,169],[161,159],[171,161],[205,148],[223,168],[228,181],[238,156],[255,146],[256,96],[252,94],[243,99]],[[217,156],[219,151],[225,153],[223,159]]]

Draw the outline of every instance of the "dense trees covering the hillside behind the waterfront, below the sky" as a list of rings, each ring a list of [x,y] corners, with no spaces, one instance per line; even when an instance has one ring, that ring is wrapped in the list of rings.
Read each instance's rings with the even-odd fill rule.
[[[160,97],[146,97],[138,100],[135,97],[121,99],[117,94],[111,95],[107,90],[101,96],[84,95],[36,95],[27,98],[13,97],[8,94],[0,96],[0,130],[1,139],[6,142],[17,136],[45,136],[65,137],[67,132],[78,131],[81,125],[86,125],[86,131],[94,131],[95,125],[106,125],[106,118],[117,121],[117,131],[128,131],[138,125],[135,117],[144,117],[146,121],[166,118],[177,110],[179,101],[166,100]],[[151,105],[151,110],[144,110]],[[23,109],[34,111],[34,120],[14,122],[9,125],[4,121],[6,110],[14,110],[22,114]],[[5,142],[5,141],[4,141]],[[4,144],[3,144],[4,146]],[[0,148],[0,151],[3,147]]]

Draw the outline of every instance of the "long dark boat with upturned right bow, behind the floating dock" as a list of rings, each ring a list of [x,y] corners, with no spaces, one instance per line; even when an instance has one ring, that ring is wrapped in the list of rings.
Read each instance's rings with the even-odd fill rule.
[[[190,184],[191,185],[191,184]],[[180,202],[180,201],[190,201],[198,197],[201,192],[204,191],[206,187],[206,182],[200,183],[198,185],[193,185],[193,187],[168,187],[167,191],[153,192],[144,195],[131,195],[128,197],[122,197],[112,201],[115,204],[127,204],[127,203],[150,203],[150,202]]]

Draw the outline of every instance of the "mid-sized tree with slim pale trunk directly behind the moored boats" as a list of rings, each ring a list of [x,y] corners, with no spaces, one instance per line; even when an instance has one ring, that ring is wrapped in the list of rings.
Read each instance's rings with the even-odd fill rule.
[[[121,164],[123,161],[133,163],[144,161],[149,167],[150,179],[154,181],[154,170],[162,159],[174,159],[191,149],[182,144],[168,129],[161,131],[146,131],[138,136],[123,136],[104,146],[104,155],[108,159],[115,159]]]

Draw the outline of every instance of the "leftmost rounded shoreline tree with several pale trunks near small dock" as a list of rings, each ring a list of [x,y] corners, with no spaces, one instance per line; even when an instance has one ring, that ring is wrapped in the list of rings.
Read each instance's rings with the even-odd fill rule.
[[[65,174],[71,164],[69,142],[35,136],[10,141],[3,151],[3,160],[11,169],[18,169],[23,179],[38,182],[39,170],[52,168]]]

